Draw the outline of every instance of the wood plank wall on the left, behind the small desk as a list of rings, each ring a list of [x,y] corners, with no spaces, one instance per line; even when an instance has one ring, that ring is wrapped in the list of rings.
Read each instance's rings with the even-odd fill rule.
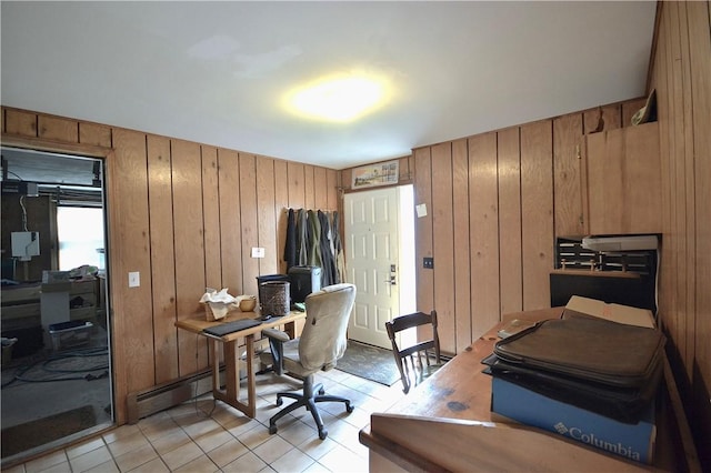
[[[130,392],[208,366],[204,340],[173,323],[206,286],[257,294],[284,272],[286,209],[337,210],[338,171],[3,108],[3,144],[106,158],[117,421]],[[264,259],[250,258],[252,246]],[[139,271],[141,285],[128,288]]]

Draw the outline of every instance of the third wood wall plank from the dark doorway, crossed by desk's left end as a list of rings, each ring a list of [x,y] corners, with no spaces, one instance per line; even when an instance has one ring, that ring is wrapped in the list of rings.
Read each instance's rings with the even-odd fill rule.
[[[200,145],[171,141],[173,185],[173,235],[176,241],[176,309],[178,320],[204,313],[200,298],[206,289],[206,249],[202,209]],[[202,340],[200,340],[202,339]],[[180,375],[208,366],[204,338],[178,331]]]

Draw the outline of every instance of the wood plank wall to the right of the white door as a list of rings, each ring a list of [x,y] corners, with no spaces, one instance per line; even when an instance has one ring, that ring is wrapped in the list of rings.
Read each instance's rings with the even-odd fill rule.
[[[437,309],[444,352],[461,352],[503,313],[550,306],[554,235],[585,232],[583,135],[630,123],[643,102],[422,147],[400,159],[401,183],[412,182],[415,203],[428,208],[415,219],[418,310]],[[343,170],[344,183],[351,172]],[[422,268],[424,256],[434,269]]]

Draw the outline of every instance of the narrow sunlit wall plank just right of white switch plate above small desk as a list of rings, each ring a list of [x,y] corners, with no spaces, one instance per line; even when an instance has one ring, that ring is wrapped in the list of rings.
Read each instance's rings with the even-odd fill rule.
[[[264,249],[264,258],[258,261],[259,274],[274,274],[279,272],[280,246],[277,240],[278,212],[274,197],[274,160],[257,158],[257,223],[259,246]],[[270,249],[270,251],[267,251]],[[257,276],[257,274],[254,274]]]

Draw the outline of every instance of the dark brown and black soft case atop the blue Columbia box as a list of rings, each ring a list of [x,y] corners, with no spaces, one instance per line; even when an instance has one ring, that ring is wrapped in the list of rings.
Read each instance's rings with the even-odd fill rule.
[[[555,319],[497,342],[482,363],[502,380],[633,424],[657,394],[664,341],[654,329]]]

